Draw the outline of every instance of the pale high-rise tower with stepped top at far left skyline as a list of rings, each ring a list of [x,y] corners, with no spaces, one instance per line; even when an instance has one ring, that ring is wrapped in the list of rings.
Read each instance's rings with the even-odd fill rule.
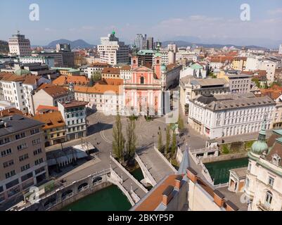
[[[8,39],[9,50],[12,55],[17,56],[31,56],[32,50],[30,47],[30,40],[25,38],[25,35],[13,34],[13,37]]]

